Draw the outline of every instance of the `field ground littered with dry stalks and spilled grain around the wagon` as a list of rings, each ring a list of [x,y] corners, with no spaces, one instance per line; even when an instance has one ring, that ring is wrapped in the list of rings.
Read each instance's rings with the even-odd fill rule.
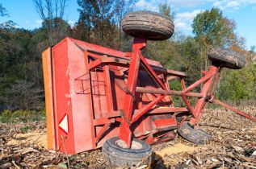
[[[256,107],[242,108],[256,115]],[[256,123],[225,109],[208,109],[198,126],[212,134],[208,145],[181,137],[153,146],[155,159],[139,168],[256,168]],[[45,149],[44,122],[0,123],[0,168],[112,168],[101,150],[65,155]]]

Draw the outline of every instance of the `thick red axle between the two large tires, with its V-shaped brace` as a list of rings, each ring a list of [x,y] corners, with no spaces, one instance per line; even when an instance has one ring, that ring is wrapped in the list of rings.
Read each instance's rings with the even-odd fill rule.
[[[162,80],[160,80],[160,78],[157,76],[157,73],[153,71],[153,68],[151,68],[147,60],[145,60],[145,58],[141,55],[141,50],[145,47],[145,45],[145,39],[134,39],[132,47],[132,59],[129,65],[127,88],[125,89],[127,92],[124,97],[124,121],[120,126],[120,139],[124,140],[128,148],[132,143],[131,126],[139,118],[145,115],[149,109],[152,109],[154,105],[157,105],[159,101],[162,101],[162,99],[166,97],[166,94],[158,96],[148,105],[145,105],[142,109],[140,109],[135,117],[132,117],[132,113],[134,113],[134,99],[136,93],[136,84],[138,80],[138,72],[141,64],[144,65],[145,70],[149,72],[149,75],[153,77],[153,80],[155,80],[162,89],[166,90],[166,85],[164,85]]]

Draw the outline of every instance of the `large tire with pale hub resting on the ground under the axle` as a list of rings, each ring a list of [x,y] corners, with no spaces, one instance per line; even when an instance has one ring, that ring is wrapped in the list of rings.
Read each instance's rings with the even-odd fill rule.
[[[152,152],[148,143],[136,138],[133,138],[131,149],[123,148],[118,142],[123,141],[118,137],[109,138],[104,142],[102,150],[105,159],[115,167],[135,167]]]

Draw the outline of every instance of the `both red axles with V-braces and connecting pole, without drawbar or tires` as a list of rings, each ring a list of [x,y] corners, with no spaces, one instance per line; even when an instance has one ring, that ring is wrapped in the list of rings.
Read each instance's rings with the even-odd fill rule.
[[[140,45],[137,47],[137,45]],[[148,62],[145,60],[145,58],[141,55],[142,48],[145,47],[145,40],[144,39],[134,39],[133,43],[133,52],[132,52],[132,59],[129,66],[129,73],[128,73],[128,83],[127,87],[121,86],[121,88],[126,92],[125,99],[124,99],[124,119],[120,126],[120,138],[126,142],[127,146],[131,146],[132,142],[132,131],[131,126],[134,124],[139,118],[141,118],[145,113],[149,112],[150,109],[153,108],[154,105],[157,105],[159,101],[161,101],[166,95],[172,95],[176,94],[178,96],[182,96],[183,100],[185,101],[187,105],[187,109],[190,110],[193,117],[191,118],[191,122],[195,124],[197,122],[197,119],[199,117],[199,113],[201,109],[204,107],[204,103],[208,94],[209,89],[212,85],[213,76],[216,74],[216,68],[215,66],[211,66],[209,72],[204,72],[205,76],[196,81],[193,85],[186,88],[185,82],[182,78],[181,84],[183,87],[183,91],[170,91],[166,89],[166,85],[162,83],[162,80],[159,79],[157,76],[157,73],[154,72],[153,68],[150,67]],[[136,87],[137,77],[138,77],[138,69],[140,68],[140,64],[143,64],[146,71],[149,72],[149,74],[153,77],[154,80],[156,80],[157,84],[162,89],[146,89],[141,87]],[[131,80],[131,78],[133,78]],[[192,89],[195,89],[197,86],[204,83],[204,87],[201,91],[201,93],[189,93]],[[135,117],[132,117],[133,109],[133,100],[135,93],[154,93],[154,94],[163,94],[162,96],[157,97],[153,101],[151,101],[148,105],[145,105],[142,109],[140,109]],[[188,101],[187,97],[199,97],[199,100],[197,101],[195,105],[195,109],[191,106],[191,103]],[[195,119],[195,122],[193,121]]]

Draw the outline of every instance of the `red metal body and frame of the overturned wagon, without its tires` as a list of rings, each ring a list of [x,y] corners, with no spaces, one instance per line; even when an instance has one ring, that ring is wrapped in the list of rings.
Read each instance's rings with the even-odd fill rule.
[[[182,122],[199,122],[206,102],[256,121],[214,99],[220,68],[212,65],[186,87],[186,74],[145,59],[145,46],[145,39],[134,39],[127,53],[66,38],[43,53],[49,148],[75,154],[99,148],[115,136],[128,147],[132,138],[150,144],[170,140]],[[171,90],[174,79],[180,80],[182,91]],[[193,92],[199,85],[201,92]],[[187,106],[174,107],[172,95],[182,97]],[[195,106],[189,97],[198,98]]]

